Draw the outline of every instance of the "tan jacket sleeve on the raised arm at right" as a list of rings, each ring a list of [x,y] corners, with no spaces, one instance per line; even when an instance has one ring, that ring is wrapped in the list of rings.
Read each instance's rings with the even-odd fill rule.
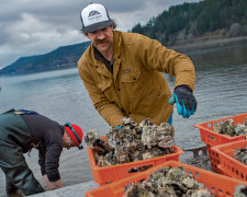
[[[148,69],[155,69],[176,77],[175,86],[188,85],[192,91],[195,83],[193,62],[186,55],[162,46],[158,40],[141,36],[138,44],[142,50],[142,60]]]

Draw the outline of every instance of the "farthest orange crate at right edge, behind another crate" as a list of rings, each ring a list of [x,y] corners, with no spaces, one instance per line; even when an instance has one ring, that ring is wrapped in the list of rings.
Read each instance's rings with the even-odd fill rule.
[[[221,123],[228,118],[232,118],[234,120],[234,124],[237,125],[237,124],[243,124],[245,121],[246,117],[247,117],[247,113],[197,124],[197,125],[194,125],[194,127],[200,129],[201,140],[203,142],[205,142],[206,144],[210,144],[210,146],[218,146],[218,144],[245,139],[247,135],[236,136],[236,137],[231,137],[228,135],[221,135],[221,134],[213,131],[213,124]]]

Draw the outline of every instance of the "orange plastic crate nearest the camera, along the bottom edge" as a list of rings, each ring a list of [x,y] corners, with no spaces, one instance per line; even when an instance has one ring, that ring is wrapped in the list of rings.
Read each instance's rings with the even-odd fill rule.
[[[88,190],[85,193],[86,197],[101,197],[101,196],[114,196],[122,197],[124,195],[124,188],[130,183],[147,179],[149,175],[165,166],[183,166],[187,173],[191,173],[198,182],[204,183],[211,190],[212,195],[216,197],[231,197],[234,196],[235,186],[237,184],[247,184],[239,179],[231,178],[221,174],[216,174],[210,171],[205,171],[192,165],[188,165],[177,161],[168,161],[161,165],[151,167],[147,171],[141,172],[133,176],[120,179],[109,185],[101,186],[99,188]]]

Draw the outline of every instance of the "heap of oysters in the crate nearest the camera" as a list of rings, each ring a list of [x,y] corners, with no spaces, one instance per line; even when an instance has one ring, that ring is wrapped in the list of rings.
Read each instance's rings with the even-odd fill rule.
[[[206,185],[199,183],[182,166],[166,166],[150,174],[147,181],[131,183],[124,197],[211,197]]]

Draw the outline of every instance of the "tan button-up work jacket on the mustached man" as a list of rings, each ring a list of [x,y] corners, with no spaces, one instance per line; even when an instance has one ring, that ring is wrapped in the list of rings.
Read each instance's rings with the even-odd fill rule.
[[[78,61],[79,74],[100,115],[111,126],[124,116],[139,123],[168,121],[172,108],[170,89],[161,72],[176,76],[175,86],[194,88],[192,61],[184,55],[167,49],[158,40],[135,33],[113,31],[113,73],[96,60],[92,44]]]

